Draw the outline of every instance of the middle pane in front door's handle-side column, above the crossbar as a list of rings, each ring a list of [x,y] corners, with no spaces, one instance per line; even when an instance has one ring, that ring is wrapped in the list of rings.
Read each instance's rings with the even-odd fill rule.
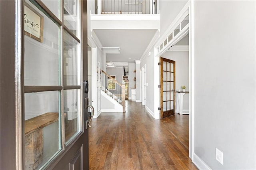
[[[66,31],[63,32],[63,84],[78,85],[79,43]]]

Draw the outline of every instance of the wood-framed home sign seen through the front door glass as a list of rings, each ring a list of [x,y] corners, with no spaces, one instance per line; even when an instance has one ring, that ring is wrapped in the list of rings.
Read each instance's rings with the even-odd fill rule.
[[[24,31],[27,36],[43,42],[44,17],[25,3],[24,6]]]

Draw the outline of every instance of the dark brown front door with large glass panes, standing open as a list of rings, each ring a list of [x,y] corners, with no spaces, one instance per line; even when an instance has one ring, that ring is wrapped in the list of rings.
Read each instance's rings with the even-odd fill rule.
[[[1,85],[0,169],[88,169],[87,1],[1,1],[0,12],[9,92]],[[9,115],[2,97],[14,108]]]

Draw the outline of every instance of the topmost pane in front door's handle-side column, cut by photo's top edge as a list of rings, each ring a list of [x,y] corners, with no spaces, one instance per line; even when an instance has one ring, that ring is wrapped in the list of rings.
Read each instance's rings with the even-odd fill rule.
[[[80,1],[64,0],[64,25],[80,39]]]

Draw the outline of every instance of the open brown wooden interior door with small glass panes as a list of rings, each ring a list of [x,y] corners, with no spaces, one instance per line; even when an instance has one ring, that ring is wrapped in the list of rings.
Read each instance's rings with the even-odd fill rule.
[[[175,61],[160,57],[160,119],[175,115]]]

